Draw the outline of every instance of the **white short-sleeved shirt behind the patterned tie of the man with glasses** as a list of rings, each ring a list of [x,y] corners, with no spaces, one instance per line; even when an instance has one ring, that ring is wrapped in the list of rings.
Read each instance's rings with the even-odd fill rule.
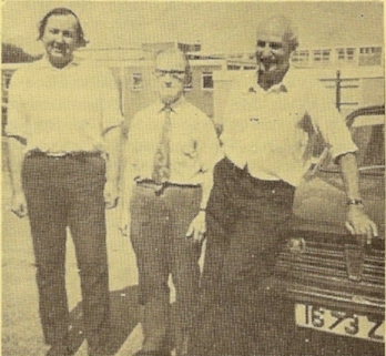
[[[152,177],[164,123],[163,108],[158,101],[136,113],[130,124],[124,156],[131,177]],[[183,96],[172,104],[170,140],[171,183],[200,185],[203,174],[223,157],[212,120]]]

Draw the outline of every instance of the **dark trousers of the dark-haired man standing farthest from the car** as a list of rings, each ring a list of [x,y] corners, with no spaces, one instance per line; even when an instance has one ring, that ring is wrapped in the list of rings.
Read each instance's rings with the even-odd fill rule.
[[[68,337],[67,227],[75,246],[89,347],[98,347],[104,336],[109,321],[104,182],[105,162],[100,156],[57,159],[27,154],[24,159],[22,183],[47,344],[65,342]]]

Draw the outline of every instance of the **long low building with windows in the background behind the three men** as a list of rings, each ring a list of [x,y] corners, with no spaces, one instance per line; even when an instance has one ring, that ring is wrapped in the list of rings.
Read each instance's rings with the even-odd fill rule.
[[[122,112],[130,122],[136,111],[155,100],[153,59],[156,52],[169,48],[182,50],[190,59],[192,78],[186,84],[185,95],[214,121],[215,108],[225,100],[220,90],[216,93],[216,85],[224,85],[228,78],[240,75],[240,71],[256,70],[255,54],[252,52],[203,53],[200,42],[143,43],[141,48],[84,48],[77,55],[100,62],[112,70],[121,94]],[[3,125],[7,121],[10,78],[20,65],[24,64],[2,65]],[[332,104],[338,104],[343,113],[366,104],[384,103],[384,47],[380,44],[299,48],[293,53],[292,67],[307,71],[305,74],[308,78],[316,78],[332,89]],[[341,87],[339,93],[336,92],[337,84]],[[215,101],[220,104],[215,104]]]

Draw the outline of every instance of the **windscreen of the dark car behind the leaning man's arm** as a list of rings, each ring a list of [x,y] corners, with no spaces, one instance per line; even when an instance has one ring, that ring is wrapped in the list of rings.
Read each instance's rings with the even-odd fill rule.
[[[360,174],[384,174],[385,124],[379,123],[383,120],[383,115],[357,116],[353,122],[351,131],[358,148],[356,156]],[[321,164],[321,171],[338,172],[338,166],[328,157]]]

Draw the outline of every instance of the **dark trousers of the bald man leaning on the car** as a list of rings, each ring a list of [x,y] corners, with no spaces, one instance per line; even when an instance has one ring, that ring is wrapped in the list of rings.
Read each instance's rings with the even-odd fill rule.
[[[273,271],[294,191],[226,157],[215,166],[191,355],[285,355],[287,313]]]

